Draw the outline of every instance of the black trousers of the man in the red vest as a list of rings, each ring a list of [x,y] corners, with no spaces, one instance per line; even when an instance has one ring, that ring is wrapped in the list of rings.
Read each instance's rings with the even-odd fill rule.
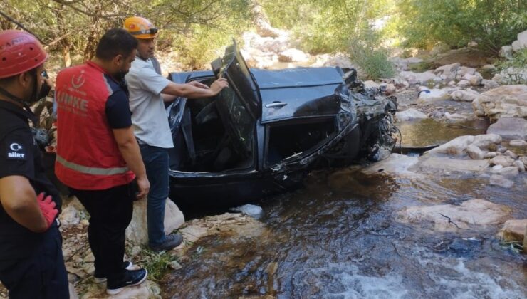
[[[108,279],[124,273],[125,230],[132,221],[134,190],[130,184],[104,190],[71,188],[90,213],[88,241],[95,257],[95,271]]]

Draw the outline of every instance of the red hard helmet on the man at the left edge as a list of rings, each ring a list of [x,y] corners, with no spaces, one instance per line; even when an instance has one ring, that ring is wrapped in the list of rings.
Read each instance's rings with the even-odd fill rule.
[[[0,79],[25,73],[48,58],[41,43],[19,30],[0,31]]]

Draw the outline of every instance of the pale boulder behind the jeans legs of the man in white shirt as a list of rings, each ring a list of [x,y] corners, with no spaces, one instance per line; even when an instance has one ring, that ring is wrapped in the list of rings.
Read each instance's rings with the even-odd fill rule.
[[[165,202],[165,234],[170,234],[182,224],[184,224],[182,211],[179,211],[174,201],[167,199]],[[135,245],[148,243],[146,199],[134,201],[134,214],[126,229],[126,239]]]

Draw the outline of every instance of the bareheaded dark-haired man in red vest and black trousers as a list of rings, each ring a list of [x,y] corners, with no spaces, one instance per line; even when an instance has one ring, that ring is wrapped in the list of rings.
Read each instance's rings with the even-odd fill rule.
[[[92,61],[62,70],[56,80],[55,173],[90,213],[94,276],[97,282],[106,281],[109,295],[147,277],[145,269],[129,270],[131,263],[123,262],[133,201],[150,189],[124,81],[136,47],[130,33],[110,29]]]

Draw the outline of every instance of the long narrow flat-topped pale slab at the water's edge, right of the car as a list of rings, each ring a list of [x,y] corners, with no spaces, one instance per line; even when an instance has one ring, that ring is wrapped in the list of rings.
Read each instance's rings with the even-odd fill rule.
[[[451,159],[448,157],[429,157],[419,162],[422,172],[449,170],[454,172],[482,172],[489,166],[487,160]]]

